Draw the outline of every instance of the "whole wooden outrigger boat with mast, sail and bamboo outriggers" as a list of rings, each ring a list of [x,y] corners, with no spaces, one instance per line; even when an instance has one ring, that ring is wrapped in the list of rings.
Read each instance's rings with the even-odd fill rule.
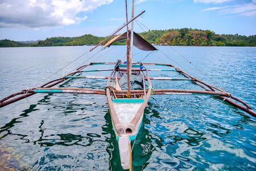
[[[131,19],[128,20],[126,0],[126,23],[119,27],[117,30],[115,30],[110,36],[100,41],[97,45],[95,45],[88,52],[82,55],[84,56],[85,54],[93,51],[101,44],[104,44],[100,49],[100,51],[103,51],[104,49],[110,47],[110,45],[112,45],[115,41],[126,40],[126,61],[118,60],[117,62],[90,62],[89,64],[81,65],[71,73],[65,75],[64,77],[49,81],[46,84],[43,84],[39,87],[24,89],[22,91],[19,91],[18,93],[11,94],[8,97],[1,99],[0,107],[4,107],[6,105],[27,98],[36,93],[71,93],[105,95],[109,106],[109,112],[112,118],[113,130],[118,141],[121,165],[123,169],[130,170],[132,168],[133,145],[135,143],[138,132],[142,127],[144,109],[147,107],[148,100],[150,99],[151,95],[210,95],[222,99],[222,101],[225,101],[230,105],[237,107],[238,109],[241,109],[247,112],[248,114],[256,117],[256,112],[251,110],[251,107],[247,105],[245,102],[243,102],[241,99],[234,97],[233,95],[216,86],[212,86],[191,76],[190,74],[184,72],[183,70],[177,68],[172,64],[133,62],[133,47],[137,47],[142,51],[158,51],[159,49],[154,47],[154,45],[148,43],[146,40],[143,39],[143,37],[134,32],[134,20],[141,16],[145,11],[142,11],[140,14],[134,17],[134,3],[132,5],[131,11]],[[131,24],[130,28],[129,24]],[[125,27],[126,31],[123,34],[118,35],[118,32]],[[165,53],[163,53],[163,55],[167,56]],[[82,56],[77,57],[77,59],[81,58]],[[92,59],[92,57],[94,56],[95,54],[89,57],[86,61]],[[72,62],[76,61],[77,59],[73,60]],[[69,64],[71,64],[72,62],[70,62]],[[109,69],[86,69],[88,68],[88,66],[97,65],[108,65],[113,67]],[[63,68],[65,68],[66,66],[64,66]],[[158,69],[148,68],[150,66],[158,67]],[[168,69],[161,68],[163,66]],[[57,72],[59,72],[60,70],[58,70]],[[105,71],[110,72],[109,77],[88,75],[77,76],[77,74],[81,73],[86,74],[90,72]],[[150,72],[176,72],[179,73],[180,76],[182,77],[150,77]],[[56,73],[53,73],[51,76],[53,76]],[[57,84],[60,84],[61,82],[70,79],[106,80],[106,87],[105,89],[89,89],[86,87],[53,87]],[[204,90],[153,89],[151,80],[189,81],[192,84],[200,86]]]

